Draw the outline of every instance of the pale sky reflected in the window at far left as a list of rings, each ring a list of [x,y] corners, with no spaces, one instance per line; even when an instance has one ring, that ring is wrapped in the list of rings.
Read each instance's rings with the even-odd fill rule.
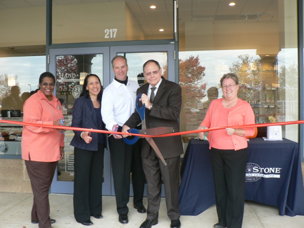
[[[37,88],[39,76],[45,69],[45,56],[0,58],[0,74],[17,75],[21,94]]]

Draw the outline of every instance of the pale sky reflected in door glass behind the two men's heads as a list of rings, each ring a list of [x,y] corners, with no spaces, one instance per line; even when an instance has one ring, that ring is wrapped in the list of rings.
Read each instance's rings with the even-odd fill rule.
[[[126,53],[126,58],[129,67],[128,77],[130,78],[137,77],[138,74],[142,73],[143,64],[150,59],[156,60],[161,67],[166,66],[168,60],[167,52]]]

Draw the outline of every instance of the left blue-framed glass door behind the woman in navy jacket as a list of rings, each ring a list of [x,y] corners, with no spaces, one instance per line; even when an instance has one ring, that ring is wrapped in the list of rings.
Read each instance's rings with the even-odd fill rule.
[[[50,72],[56,77],[54,93],[63,107],[66,126],[71,126],[72,108],[79,97],[83,80],[89,73],[98,75],[102,85],[109,81],[109,47],[50,49]],[[107,80],[104,75],[107,75]],[[51,185],[52,193],[74,192],[74,147],[72,130],[65,133],[65,156],[58,161]],[[109,153],[105,150],[102,193],[111,194]]]

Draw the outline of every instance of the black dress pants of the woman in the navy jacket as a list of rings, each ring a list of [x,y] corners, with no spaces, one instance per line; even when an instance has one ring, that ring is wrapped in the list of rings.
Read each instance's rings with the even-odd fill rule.
[[[98,150],[74,147],[74,216],[78,223],[102,212],[102,178],[105,144]]]

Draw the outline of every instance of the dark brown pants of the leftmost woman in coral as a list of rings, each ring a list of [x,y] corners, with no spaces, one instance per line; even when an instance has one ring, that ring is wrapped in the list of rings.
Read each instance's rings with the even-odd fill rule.
[[[57,161],[26,161],[26,170],[34,195],[31,219],[39,221],[39,228],[51,227],[49,190],[53,181]]]

